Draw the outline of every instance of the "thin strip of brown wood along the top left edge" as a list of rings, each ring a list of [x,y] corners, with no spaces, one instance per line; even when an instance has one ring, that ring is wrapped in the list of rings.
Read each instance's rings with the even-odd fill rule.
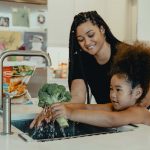
[[[29,4],[38,4],[38,5],[47,5],[47,0],[0,0],[16,3],[29,3]]]

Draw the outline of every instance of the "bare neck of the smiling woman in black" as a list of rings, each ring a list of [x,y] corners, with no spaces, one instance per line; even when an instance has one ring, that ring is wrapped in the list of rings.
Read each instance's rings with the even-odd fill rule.
[[[110,44],[105,42],[101,50],[94,56],[98,64],[106,64],[111,56],[111,47]]]

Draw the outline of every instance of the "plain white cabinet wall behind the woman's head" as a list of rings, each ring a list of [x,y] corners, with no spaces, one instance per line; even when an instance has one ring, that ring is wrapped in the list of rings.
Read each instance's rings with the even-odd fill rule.
[[[48,46],[68,47],[74,15],[89,10],[96,10],[120,40],[131,40],[131,1],[133,0],[48,0]]]

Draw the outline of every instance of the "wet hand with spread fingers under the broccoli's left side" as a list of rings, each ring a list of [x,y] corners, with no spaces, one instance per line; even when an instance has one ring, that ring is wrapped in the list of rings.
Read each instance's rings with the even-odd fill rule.
[[[30,129],[33,127],[39,127],[42,123],[42,121],[46,121],[47,123],[52,120],[52,113],[51,113],[51,108],[46,107],[44,108],[40,114],[38,114],[34,120],[30,124]]]

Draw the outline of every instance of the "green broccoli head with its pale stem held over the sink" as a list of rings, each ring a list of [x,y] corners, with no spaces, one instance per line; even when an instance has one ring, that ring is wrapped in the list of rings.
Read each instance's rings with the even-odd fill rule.
[[[68,102],[71,100],[70,92],[66,91],[63,85],[56,83],[44,84],[38,92],[38,106],[44,108],[56,102]],[[60,117],[56,120],[60,127],[68,127],[68,122],[65,118]]]

